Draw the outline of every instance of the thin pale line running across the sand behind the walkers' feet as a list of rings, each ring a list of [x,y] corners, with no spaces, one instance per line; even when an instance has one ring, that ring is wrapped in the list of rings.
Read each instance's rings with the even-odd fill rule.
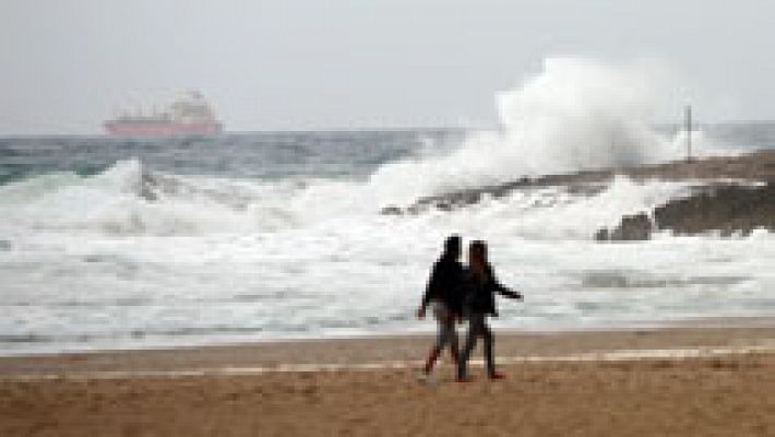
[[[499,364],[525,363],[585,363],[585,362],[633,362],[648,359],[712,358],[729,355],[755,355],[775,352],[775,342],[740,347],[694,347],[694,349],[656,349],[656,350],[616,350],[586,352],[572,355],[526,355],[500,356]],[[202,367],[177,370],[96,370],[63,371],[51,374],[23,374],[0,376],[5,381],[40,380],[95,380],[95,379],[136,379],[136,378],[187,378],[211,376],[251,376],[264,374],[309,374],[347,370],[405,370],[422,366],[421,361],[386,361],[375,363],[329,363],[329,364],[281,364],[276,366],[254,367]],[[474,366],[484,366],[482,359],[472,359]]]

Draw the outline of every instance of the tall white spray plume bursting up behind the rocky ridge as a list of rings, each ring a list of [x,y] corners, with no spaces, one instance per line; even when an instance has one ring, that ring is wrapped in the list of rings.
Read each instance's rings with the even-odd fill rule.
[[[672,158],[670,139],[653,128],[663,76],[654,62],[547,59],[539,74],[498,94],[501,129],[473,132],[442,156],[388,164],[371,181],[385,202],[402,203],[522,176]]]

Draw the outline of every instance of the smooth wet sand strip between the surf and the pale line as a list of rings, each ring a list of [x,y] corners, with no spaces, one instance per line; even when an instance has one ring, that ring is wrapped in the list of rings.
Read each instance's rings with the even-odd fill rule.
[[[463,336],[464,330],[458,328]],[[775,318],[708,319],[670,327],[573,331],[494,330],[496,353],[509,361],[621,351],[766,347],[775,350]],[[201,368],[275,368],[284,365],[353,366],[415,363],[433,335],[296,339],[158,347],[0,356],[0,379],[14,375],[67,375],[92,371],[178,371]],[[475,353],[476,354],[476,353]]]

